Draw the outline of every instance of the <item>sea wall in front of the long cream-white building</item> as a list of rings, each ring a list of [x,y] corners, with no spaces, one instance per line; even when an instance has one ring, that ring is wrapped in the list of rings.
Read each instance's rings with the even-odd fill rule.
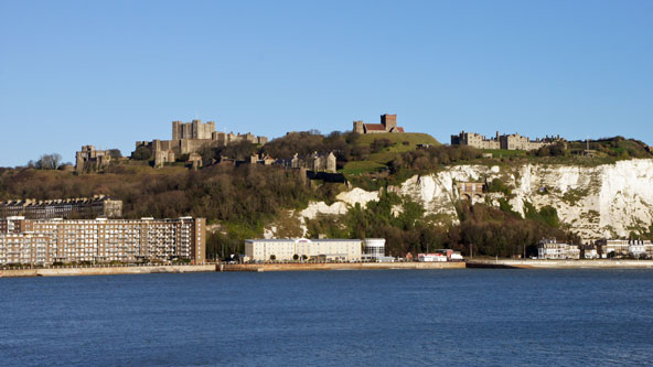
[[[325,262],[325,263],[233,263],[218,265],[218,271],[312,271],[382,269],[464,269],[464,262]]]

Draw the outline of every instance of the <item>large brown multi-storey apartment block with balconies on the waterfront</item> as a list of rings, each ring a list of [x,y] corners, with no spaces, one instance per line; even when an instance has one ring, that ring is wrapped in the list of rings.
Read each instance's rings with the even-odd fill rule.
[[[0,265],[205,260],[204,218],[0,219]]]

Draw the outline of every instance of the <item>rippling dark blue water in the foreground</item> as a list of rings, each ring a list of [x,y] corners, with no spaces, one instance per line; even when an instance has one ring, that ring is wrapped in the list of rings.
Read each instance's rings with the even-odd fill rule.
[[[0,279],[0,365],[653,363],[652,270]]]

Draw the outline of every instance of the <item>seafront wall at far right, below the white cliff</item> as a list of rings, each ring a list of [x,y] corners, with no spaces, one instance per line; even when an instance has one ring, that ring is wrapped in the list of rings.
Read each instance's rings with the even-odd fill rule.
[[[468,260],[468,268],[501,269],[653,269],[653,260]]]

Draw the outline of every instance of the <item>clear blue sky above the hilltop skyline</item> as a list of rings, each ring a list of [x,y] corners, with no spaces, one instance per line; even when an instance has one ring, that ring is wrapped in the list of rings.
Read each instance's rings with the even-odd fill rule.
[[[653,1],[0,0],[0,166],[170,139],[280,137],[397,114],[653,144]]]

